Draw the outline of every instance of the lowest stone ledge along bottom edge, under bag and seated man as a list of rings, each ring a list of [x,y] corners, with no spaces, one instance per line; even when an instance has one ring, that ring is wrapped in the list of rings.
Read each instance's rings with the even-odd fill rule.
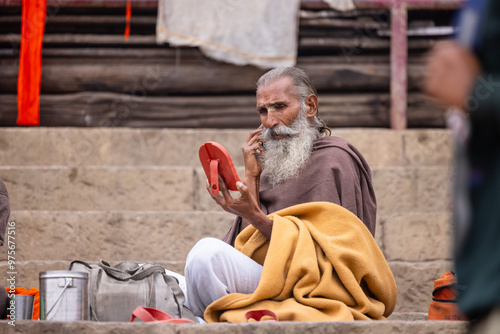
[[[2,321],[3,333],[29,334],[459,334],[466,333],[468,323],[459,321],[349,321],[349,322],[260,322],[243,324],[196,324],[172,325],[152,323],[117,323],[117,322],[51,322],[17,321],[16,326]]]

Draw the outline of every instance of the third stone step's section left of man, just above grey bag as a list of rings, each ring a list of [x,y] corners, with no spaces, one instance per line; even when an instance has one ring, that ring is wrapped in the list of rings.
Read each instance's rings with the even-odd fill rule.
[[[16,260],[184,261],[204,237],[222,238],[226,212],[14,211]],[[7,251],[0,252],[7,260]]]

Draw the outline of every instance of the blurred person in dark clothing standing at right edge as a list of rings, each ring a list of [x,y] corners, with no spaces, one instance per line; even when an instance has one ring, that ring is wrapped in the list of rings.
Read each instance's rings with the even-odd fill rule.
[[[469,0],[457,19],[456,39],[438,43],[429,55],[425,89],[450,107],[459,144],[458,305],[472,332],[500,333],[500,1]],[[457,118],[458,110],[464,117]]]

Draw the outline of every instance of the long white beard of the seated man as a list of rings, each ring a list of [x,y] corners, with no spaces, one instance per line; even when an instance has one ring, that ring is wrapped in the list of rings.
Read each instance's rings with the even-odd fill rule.
[[[275,140],[272,134],[286,134],[286,138]],[[290,127],[277,126],[263,131],[265,150],[264,170],[271,187],[296,177],[309,160],[313,142],[319,132],[307,120],[305,109],[301,109]]]

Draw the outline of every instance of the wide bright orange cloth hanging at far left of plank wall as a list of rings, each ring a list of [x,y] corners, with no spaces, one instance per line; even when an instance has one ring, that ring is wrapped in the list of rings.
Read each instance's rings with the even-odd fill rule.
[[[17,79],[17,124],[39,125],[42,42],[47,0],[23,0],[21,53]]]

